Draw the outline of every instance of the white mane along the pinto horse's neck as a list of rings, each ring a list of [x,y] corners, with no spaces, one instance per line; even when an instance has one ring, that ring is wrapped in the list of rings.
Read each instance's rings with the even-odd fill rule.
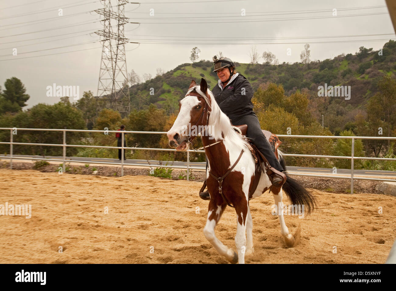
[[[209,103],[209,99],[206,96],[205,92],[202,92],[200,90],[199,85],[192,87],[190,90],[188,90],[187,94],[189,94],[191,92],[196,92],[199,95],[201,95],[202,98],[205,99],[206,103],[208,104],[208,106],[211,110],[209,122],[212,121],[213,123],[211,125],[215,126],[216,129],[219,129],[220,132],[223,133],[224,139],[229,139],[229,141],[232,144],[235,144],[238,147],[244,148],[245,150],[249,151],[248,143],[245,141],[243,135],[240,135],[231,127],[230,118],[228,118],[228,116],[223,111],[221,111],[219,105],[217,104],[217,102],[215,100],[215,97],[213,96],[212,91],[210,91],[209,89],[207,91],[207,93],[209,94],[210,99],[211,99],[210,103]],[[223,139],[221,134],[220,134],[220,136],[217,136],[215,138]]]

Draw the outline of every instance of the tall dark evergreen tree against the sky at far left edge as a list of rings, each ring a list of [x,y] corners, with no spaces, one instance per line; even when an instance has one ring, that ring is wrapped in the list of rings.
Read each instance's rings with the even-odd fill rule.
[[[0,114],[4,112],[18,112],[25,107],[30,96],[21,80],[12,77],[4,82],[5,90],[0,94]],[[0,92],[1,93],[1,92]]]

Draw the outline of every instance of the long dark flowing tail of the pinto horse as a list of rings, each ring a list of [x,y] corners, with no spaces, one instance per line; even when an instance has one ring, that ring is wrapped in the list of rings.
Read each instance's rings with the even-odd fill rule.
[[[285,170],[284,174],[286,175],[287,179],[286,182],[283,184],[282,189],[286,192],[287,197],[293,204],[304,205],[304,208],[308,210],[308,213],[312,212],[316,208],[316,199],[305,188],[301,185],[297,180],[291,178],[286,173],[286,162],[284,157],[282,156],[282,152],[278,150],[279,154],[279,163],[282,168]]]

